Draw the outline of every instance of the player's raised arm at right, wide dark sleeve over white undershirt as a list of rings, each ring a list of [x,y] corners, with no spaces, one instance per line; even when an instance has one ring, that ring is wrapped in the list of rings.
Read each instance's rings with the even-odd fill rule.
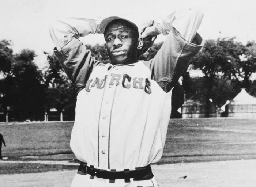
[[[167,38],[155,57],[145,65],[150,68],[152,79],[165,92],[174,87],[191,58],[202,48],[203,40],[197,33],[202,18],[201,11],[184,10],[156,23],[159,33]]]

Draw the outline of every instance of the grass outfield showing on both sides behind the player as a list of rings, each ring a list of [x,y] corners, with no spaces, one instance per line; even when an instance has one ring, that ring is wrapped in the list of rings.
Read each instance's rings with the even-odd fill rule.
[[[7,144],[2,154],[9,160],[75,159],[69,148],[72,126],[73,122],[0,123]],[[171,119],[163,157],[158,164],[239,159],[256,159],[256,119]],[[15,166],[7,164],[1,169],[8,167]],[[35,164],[19,167],[25,168],[24,171],[27,167],[34,172],[38,170]],[[50,165],[44,167],[56,169]],[[0,173],[4,172],[1,169]]]

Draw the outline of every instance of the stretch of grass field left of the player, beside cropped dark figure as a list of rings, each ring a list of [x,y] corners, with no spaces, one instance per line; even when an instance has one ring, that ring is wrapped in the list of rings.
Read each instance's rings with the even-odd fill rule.
[[[18,159],[22,156],[72,153],[69,139],[73,122],[9,123],[0,125],[6,147],[3,156]]]

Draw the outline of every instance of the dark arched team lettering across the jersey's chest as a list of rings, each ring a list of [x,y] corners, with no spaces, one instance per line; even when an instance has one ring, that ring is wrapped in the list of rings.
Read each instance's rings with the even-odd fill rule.
[[[150,94],[152,93],[151,91],[151,83],[150,81],[146,78],[140,78],[140,77],[130,77],[128,74],[120,75],[120,74],[115,74],[111,73],[111,80],[109,83],[109,88],[111,88],[113,85],[116,86],[122,86],[123,88],[135,88],[135,89],[143,89],[146,93]],[[91,91],[91,88],[96,87],[98,89],[102,89],[105,87],[106,80],[107,80],[108,75],[105,75],[104,79],[99,79],[98,77],[90,79],[86,83],[86,88],[85,90],[87,92]]]

